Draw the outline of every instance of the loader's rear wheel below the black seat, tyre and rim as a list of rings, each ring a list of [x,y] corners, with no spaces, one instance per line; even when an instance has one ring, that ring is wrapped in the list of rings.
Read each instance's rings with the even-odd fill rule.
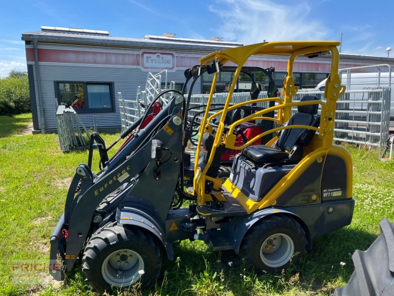
[[[272,215],[256,222],[244,236],[239,255],[257,274],[275,273],[306,253],[305,231],[292,218]]]

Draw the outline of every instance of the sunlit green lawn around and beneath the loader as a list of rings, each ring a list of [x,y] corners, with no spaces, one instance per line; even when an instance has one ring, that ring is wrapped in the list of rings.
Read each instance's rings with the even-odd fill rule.
[[[18,136],[29,121],[31,115],[0,116],[0,295],[94,295],[80,266],[60,286],[11,283],[13,260],[49,258],[49,237],[64,210],[71,177],[88,154],[62,153],[56,134]],[[117,135],[102,137],[111,143]],[[380,162],[377,151],[346,148],[354,162],[353,222],[315,239],[297,266],[256,276],[232,252],[211,252],[201,242],[184,241],[174,246],[175,260],[164,260],[155,287],[123,294],[330,295],[349,280],[353,252],[365,250],[379,235],[379,221],[394,221],[394,162]]]

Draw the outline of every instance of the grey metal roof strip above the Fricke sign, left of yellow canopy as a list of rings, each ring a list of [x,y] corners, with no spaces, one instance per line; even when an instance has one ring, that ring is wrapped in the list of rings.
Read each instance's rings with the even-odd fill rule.
[[[83,33],[68,33],[56,31],[36,31],[22,34],[22,40],[31,41],[84,43],[100,45],[116,45],[125,47],[160,47],[160,48],[198,48],[214,50],[215,48],[231,48],[241,46],[242,43],[227,41],[198,40],[187,38],[165,38],[161,36],[145,36],[145,38],[99,36]]]

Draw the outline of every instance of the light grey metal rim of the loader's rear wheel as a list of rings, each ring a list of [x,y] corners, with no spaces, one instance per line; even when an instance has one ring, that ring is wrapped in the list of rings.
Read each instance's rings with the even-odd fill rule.
[[[294,254],[294,242],[284,233],[276,233],[267,237],[260,249],[260,258],[269,267],[285,265]]]

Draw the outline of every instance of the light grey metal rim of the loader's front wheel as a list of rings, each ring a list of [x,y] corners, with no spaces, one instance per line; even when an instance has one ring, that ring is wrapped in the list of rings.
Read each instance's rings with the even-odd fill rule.
[[[128,287],[138,281],[143,273],[140,270],[144,270],[144,260],[138,253],[129,249],[111,253],[101,265],[102,277],[109,285],[115,287]]]

